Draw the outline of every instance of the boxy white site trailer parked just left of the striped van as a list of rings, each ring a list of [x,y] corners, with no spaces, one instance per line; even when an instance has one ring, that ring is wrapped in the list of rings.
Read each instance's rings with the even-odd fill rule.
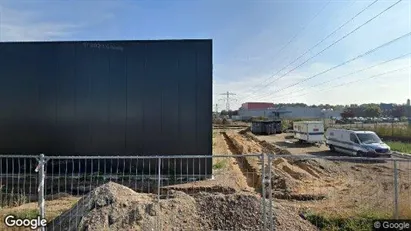
[[[323,121],[297,121],[293,122],[294,138],[305,143],[324,142]]]

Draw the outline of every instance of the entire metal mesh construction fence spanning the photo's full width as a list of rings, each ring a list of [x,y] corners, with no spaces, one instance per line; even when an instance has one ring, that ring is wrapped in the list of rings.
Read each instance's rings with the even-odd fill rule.
[[[213,175],[201,171],[209,164]],[[43,230],[315,230],[352,217],[358,226],[411,219],[409,159],[2,155],[0,173],[2,220],[39,216]]]

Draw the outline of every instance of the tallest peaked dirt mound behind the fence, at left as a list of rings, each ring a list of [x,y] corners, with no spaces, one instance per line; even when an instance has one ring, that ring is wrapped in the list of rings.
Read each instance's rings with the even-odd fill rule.
[[[155,197],[109,182],[53,220],[48,230],[162,230],[159,225],[170,223],[180,230],[198,223],[195,216],[182,216],[196,213],[193,198],[179,192],[170,196],[160,209]]]

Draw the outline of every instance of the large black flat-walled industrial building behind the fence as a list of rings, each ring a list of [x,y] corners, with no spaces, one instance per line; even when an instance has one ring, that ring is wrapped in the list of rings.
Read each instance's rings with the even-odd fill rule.
[[[1,42],[0,65],[0,156],[212,154],[211,40]]]

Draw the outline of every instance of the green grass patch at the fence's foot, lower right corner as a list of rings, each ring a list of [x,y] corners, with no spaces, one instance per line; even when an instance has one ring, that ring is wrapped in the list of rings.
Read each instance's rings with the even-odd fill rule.
[[[376,212],[366,212],[355,217],[327,216],[312,212],[303,214],[310,223],[324,231],[368,231],[372,230],[373,220],[390,218],[388,214]]]

